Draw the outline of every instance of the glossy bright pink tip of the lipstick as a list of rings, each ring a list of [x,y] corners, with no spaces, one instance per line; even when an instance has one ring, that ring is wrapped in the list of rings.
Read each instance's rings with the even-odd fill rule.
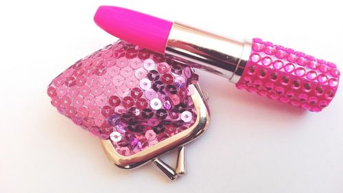
[[[141,12],[106,5],[99,6],[94,21],[109,34],[160,54],[165,52],[173,25],[170,21]]]

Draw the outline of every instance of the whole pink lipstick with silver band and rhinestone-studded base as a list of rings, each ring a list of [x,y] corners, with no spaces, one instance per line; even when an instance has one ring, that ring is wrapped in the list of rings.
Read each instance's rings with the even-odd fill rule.
[[[329,105],[340,77],[334,63],[259,38],[238,40],[115,6],[100,6],[94,21],[125,41],[187,60],[193,67],[309,111]]]

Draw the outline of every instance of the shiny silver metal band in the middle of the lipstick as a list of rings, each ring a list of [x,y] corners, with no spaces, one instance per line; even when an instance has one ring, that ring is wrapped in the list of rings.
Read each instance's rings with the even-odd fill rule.
[[[175,22],[169,33],[165,54],[176,56],[174,60],[191,61],[196,68],[237,83],[249,60],[251,47],[251,41],[218,36]]]

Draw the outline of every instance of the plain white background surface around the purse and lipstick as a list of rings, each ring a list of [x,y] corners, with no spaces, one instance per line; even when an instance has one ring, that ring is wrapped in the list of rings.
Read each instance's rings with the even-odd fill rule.
[[[188,174],[121,170],[49,103],[47,84],[116,38],[93,23],[119,5],[235,37],[260,37],[343,70],[339,1],[1,1],[0,192],[343,192],[342,85],[322,113],[235,89],[198,71],[211,125],[187,146]],[[174,164],[174,155],[166,158]]]

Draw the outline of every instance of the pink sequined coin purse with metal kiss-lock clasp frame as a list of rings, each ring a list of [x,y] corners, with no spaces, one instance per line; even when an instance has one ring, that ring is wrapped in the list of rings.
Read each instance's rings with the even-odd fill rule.
[[[116,166],[152,161],[169,179],[185,174],[184,145],[209,125],[193,69],[125,41],[79,60],[47,93],[59,113],[99,137]],[[175,169],[158,158],[174,148]]]

